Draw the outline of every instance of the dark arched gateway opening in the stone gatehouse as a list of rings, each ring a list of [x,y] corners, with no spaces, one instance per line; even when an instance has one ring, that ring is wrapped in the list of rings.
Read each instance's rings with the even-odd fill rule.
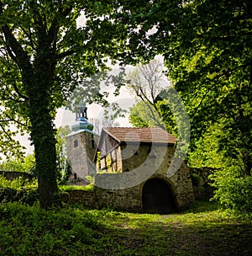
[[[168,214],[177,212],[175,198],[162,179],[149,179],[142,192],[143,210],[147,213]]]

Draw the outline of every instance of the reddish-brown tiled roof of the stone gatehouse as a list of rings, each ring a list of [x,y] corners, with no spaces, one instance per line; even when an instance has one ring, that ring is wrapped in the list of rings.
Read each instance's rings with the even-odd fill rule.
[[[174,144],[175,136],[161,128],[134,128],[134,127],[105,127],[102,128],[118,142],[140,141]]]

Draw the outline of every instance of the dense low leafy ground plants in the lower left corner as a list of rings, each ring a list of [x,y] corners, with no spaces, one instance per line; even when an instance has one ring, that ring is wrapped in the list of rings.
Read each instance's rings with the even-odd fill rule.
[[[83,255],[102,224],[91,211],[0,205],[1,255]]]

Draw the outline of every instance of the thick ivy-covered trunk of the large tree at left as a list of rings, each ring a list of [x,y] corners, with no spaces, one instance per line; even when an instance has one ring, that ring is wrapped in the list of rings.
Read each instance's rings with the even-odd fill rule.
[[[58,191],[56,181],[55,127],[50,113],[50,97],[53,84],[54,65],[48,49],[34,61],[33,77],[30,79],[27,93],[29,99],[29,120],[31,122],[31,140],[34,144],[36,171],[39,183],[39,201],[44,209],[53,204]],[[47,54],[46,54],[47,53]]]

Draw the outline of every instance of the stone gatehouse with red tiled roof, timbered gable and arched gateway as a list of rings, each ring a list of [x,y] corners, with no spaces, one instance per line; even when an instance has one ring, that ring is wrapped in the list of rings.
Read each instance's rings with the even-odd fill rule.
[[[160,128],[103,128],[95,176],[100,207],[171,213],[192,204],[186,163],[176,158],[176,138]],[[179,163],[179,164],[177,164]]]

